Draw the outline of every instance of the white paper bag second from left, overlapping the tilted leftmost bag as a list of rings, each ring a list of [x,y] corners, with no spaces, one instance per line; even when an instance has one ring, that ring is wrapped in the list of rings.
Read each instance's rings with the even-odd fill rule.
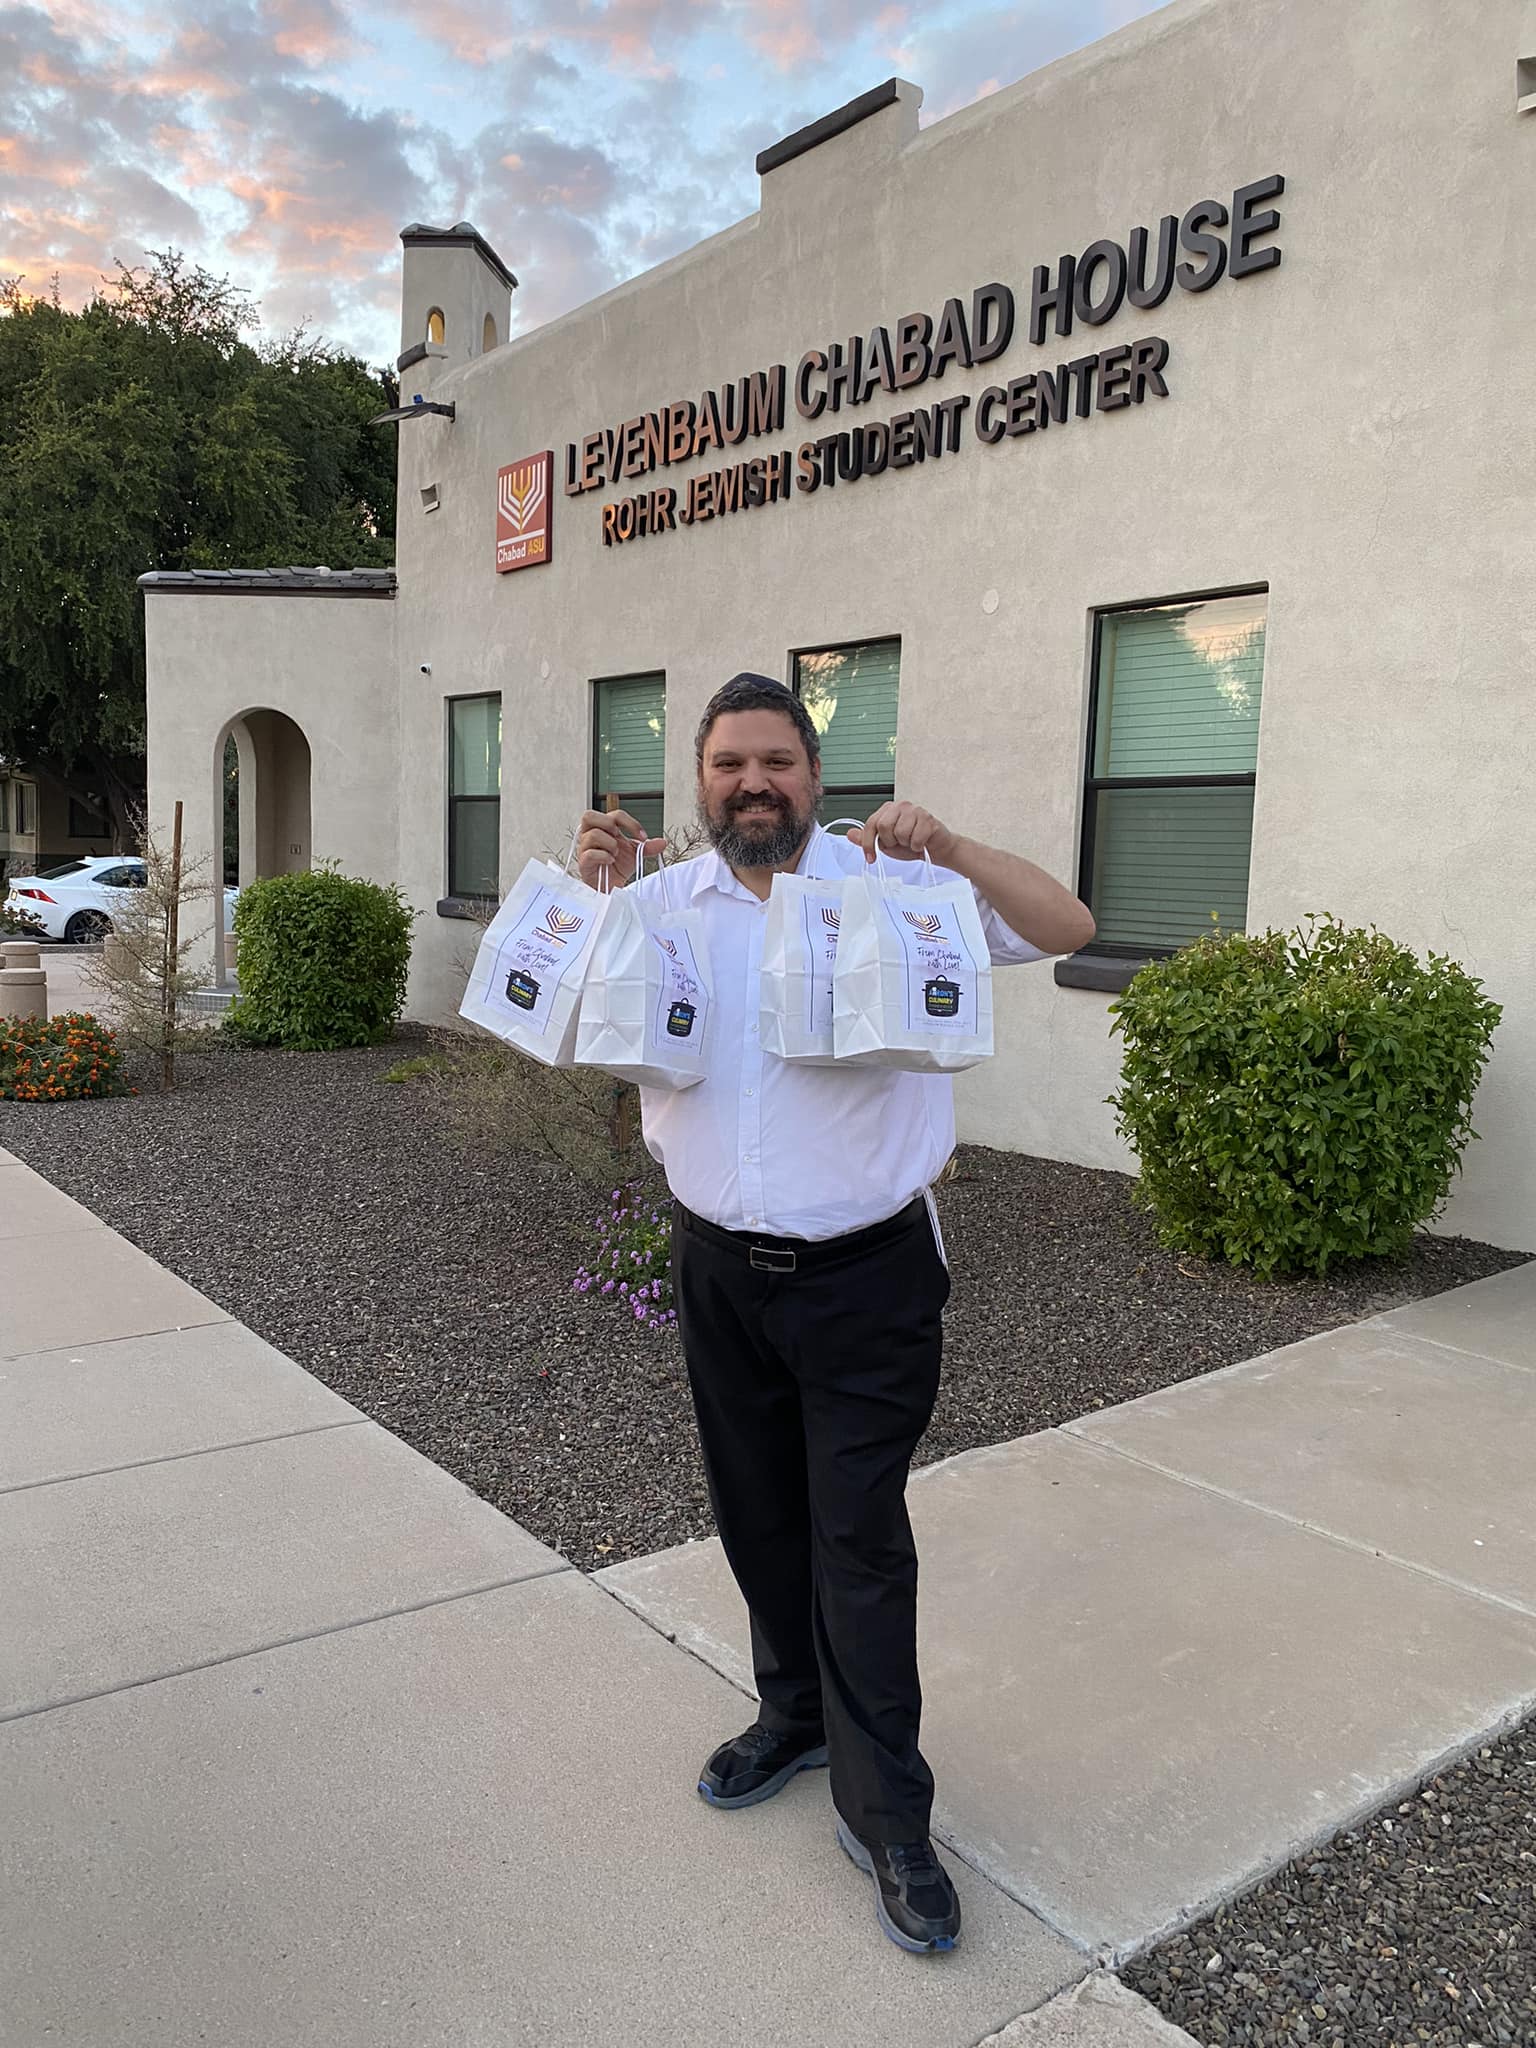
[[[696,1087],[711,1008],[700,913],[668,909],[659,874],[614,891],[582,987],[575,1065],[641,1087]]]

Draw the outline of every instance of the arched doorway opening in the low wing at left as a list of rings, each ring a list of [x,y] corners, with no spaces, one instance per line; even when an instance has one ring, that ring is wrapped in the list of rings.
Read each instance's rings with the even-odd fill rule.
[[[233,745],[233,758],[231,758]],[[285,711],[256,707],[229,719],[213,748],[213,868],[246,883],[309,866],[309,741]],[[213,981],[225,987],[223,893]]]

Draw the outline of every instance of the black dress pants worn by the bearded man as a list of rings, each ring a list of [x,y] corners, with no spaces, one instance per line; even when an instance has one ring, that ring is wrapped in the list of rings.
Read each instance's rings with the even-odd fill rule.
[[[872,1239],[872,1241],[870,1241]],[[762,1718],[819,1735],[864,1841],[928,1835],[907,1466],[938,1395],[948,1272],[922,1202],[793,1272],[678,1208],[672,1280]],[[786,1245],[786,1239],[756,1239]],[[760,1251],[760,1257],[774,1257]],[[782,1253],[780,1253],[782,1257]]]

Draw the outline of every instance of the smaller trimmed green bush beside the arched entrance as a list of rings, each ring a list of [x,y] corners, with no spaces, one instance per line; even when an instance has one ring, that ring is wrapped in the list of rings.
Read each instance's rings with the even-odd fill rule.
[[[406,1004],[412,918],[399,889],[330,866],[250,883],[236,903],[229,1028],[301,1053],[387,1038]]]

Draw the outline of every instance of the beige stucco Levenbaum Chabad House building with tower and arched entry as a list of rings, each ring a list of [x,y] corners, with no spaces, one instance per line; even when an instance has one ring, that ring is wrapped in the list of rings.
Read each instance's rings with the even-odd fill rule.
[[[487,242],[408,227],[397,571],[147,578],[152,813],[211,834],[233,731],[246,872],[399,881],[451,1016],[467,903],[594,795],[686,821],[709,692],[780,674],[829,815],[1096,907],[965,1135],[1124,1165],[1135,961],[1337,911],[1505,1006],[1444,1227],[1536,1245],[1536,8],[1182,0],[918,104],[510,344]]]

